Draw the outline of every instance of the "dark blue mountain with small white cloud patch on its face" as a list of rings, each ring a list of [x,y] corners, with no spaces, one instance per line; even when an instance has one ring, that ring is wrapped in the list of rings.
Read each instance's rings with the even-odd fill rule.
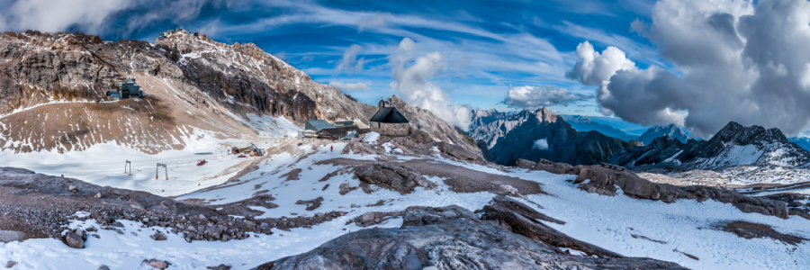
[[[475,139],[482,138],[479,134],[487,130],[496,130],[497,136],[491,138],[495,139],[494,143],[488,143],[494,145],[490,152],[495,163],[507,166],[514,165],[518,158],[545,158],[572,165],[597,164],[635,146],[635,142],[611,138],[596,130],[574,130],[571,124],[546,108],[509,114],[482,126],[473,123],[473,127]]]

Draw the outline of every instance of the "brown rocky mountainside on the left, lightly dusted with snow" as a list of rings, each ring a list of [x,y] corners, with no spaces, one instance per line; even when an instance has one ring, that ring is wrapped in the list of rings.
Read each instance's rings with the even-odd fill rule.
[[[104,97],[127,76],[147,98]],[[82,150],[110,141],[146,152],[183,148],[183,137],[197,130],[257,134],[234,118],[248,113],[299,124],[365,121],[374,107],[253,44],[184,31],[155,44],[68,32],[0,34],[0,149]]]

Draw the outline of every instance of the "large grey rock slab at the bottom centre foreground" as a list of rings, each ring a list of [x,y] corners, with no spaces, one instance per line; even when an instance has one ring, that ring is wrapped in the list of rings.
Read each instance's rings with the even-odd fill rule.
[[[482,218],[456,205],[411,206],[401,228],[361,229],[256,269],[686,269],[568,238],[527,217],[536,211],[506,197],[493,205],[482,210]]]

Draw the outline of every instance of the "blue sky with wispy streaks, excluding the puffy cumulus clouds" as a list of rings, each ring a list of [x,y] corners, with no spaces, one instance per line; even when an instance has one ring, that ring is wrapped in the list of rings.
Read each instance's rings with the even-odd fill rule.
[[[409,38],[417,45],[416,57],[431,52],[442,55],[445,65],[429,81],[449,93],[454,104],[510,111],[520,107],[503,103],[509,85],[556,85],[592,96],[596,87],[565,77],[577,61],[574,50],[585,40],[598,51],[617,46],[640,67],[660,62],[648,41],[630,31],[636,18],[650,16],[652,4],[635,0],[181,1],[168,6],[175,9],[173,13],[156,12],[166,9],[166,4],[130,4],[113,11],[104,25],[88,29],[93,27],[76,23],[67,30],[95,31],[105,40],[153,41],[159,31],[182,26],[214,40],[253,42],[316,81],[341,86],[365,103],[398,94],[390,85],[390,56],[401,40]],[[553,107],[563,113],[601,114],[593,98]]]

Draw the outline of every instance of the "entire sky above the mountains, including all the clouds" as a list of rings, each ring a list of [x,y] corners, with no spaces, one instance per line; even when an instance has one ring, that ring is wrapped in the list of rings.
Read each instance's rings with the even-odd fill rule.
[[[154,42],[183,27],[253,42],[364,103],[400,95],[464,128],[469,109],[810,128],[802,0],[0,0],[0,31]]]

